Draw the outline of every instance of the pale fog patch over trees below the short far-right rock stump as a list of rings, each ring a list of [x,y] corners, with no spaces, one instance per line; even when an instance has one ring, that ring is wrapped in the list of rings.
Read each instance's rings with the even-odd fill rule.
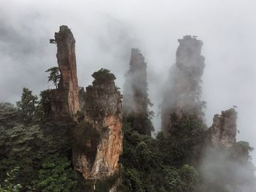
[[[206,186],[204,191],[255,191],[255,167],[247,161],[246,154],[233,158],[233,149],[207,145],[199,168]]]

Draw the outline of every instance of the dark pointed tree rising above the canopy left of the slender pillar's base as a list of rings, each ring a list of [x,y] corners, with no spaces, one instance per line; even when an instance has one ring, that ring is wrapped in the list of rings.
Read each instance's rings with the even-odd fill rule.
[[[23,88],[21,100],[17,101],[16,104],[23,122],[30,123],[34,119],[37,109],[37,96],[34,96],[28,88]]]

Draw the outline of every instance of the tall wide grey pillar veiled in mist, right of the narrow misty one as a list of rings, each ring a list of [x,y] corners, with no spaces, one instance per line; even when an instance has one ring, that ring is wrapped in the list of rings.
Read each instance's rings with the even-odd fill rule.
[[[200,101],[200,83],[205,67],[201,55],[203,42],[191,36],[184,36],[178,42],[176,64],[170,70],[162,101],[162,130],[165,133],[170,132],[175,123],[170,118],[173,113],[179,119],[184,114],[203,119],[203,101]]]

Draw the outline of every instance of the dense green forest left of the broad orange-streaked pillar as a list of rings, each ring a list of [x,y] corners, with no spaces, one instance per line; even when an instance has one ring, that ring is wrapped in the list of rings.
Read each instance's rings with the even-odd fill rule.
[[[41,94],[42,96],[42,94]],[[73,191],[70,128],[50,120],[24,88],[17,107],[0,104],[0,191]]]

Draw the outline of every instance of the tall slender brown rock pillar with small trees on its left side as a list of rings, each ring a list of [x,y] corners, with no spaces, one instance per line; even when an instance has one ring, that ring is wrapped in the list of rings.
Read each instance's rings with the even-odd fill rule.
[[[79,110],[75,39],[67,26],[60,26],[55,40],[61,80],[56,90],[49,91],[50,112],[53,117],[75,115]]]

